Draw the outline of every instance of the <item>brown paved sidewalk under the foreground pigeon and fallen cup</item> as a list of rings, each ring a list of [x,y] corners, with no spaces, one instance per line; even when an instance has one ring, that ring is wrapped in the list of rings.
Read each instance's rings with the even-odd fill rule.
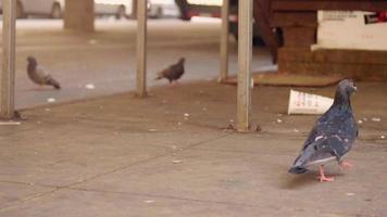
[[[254,133],[223,130],[236,87],[214,81],[25,110],[0,126],[0,216],[386,216],[387,86],[358,86],[355,166],[333,183],[287,173],[316,118],[284,114],[289,88],[254,88]]]

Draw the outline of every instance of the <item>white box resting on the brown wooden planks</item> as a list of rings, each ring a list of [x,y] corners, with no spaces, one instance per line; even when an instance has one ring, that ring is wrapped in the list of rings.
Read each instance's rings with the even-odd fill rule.
[[[319,11],[317,44],[312,50],[387,51],[387,22],[384,17],[375,20],[377,15],[364,11]],[[385,16],[386,12],[380,15]]]

